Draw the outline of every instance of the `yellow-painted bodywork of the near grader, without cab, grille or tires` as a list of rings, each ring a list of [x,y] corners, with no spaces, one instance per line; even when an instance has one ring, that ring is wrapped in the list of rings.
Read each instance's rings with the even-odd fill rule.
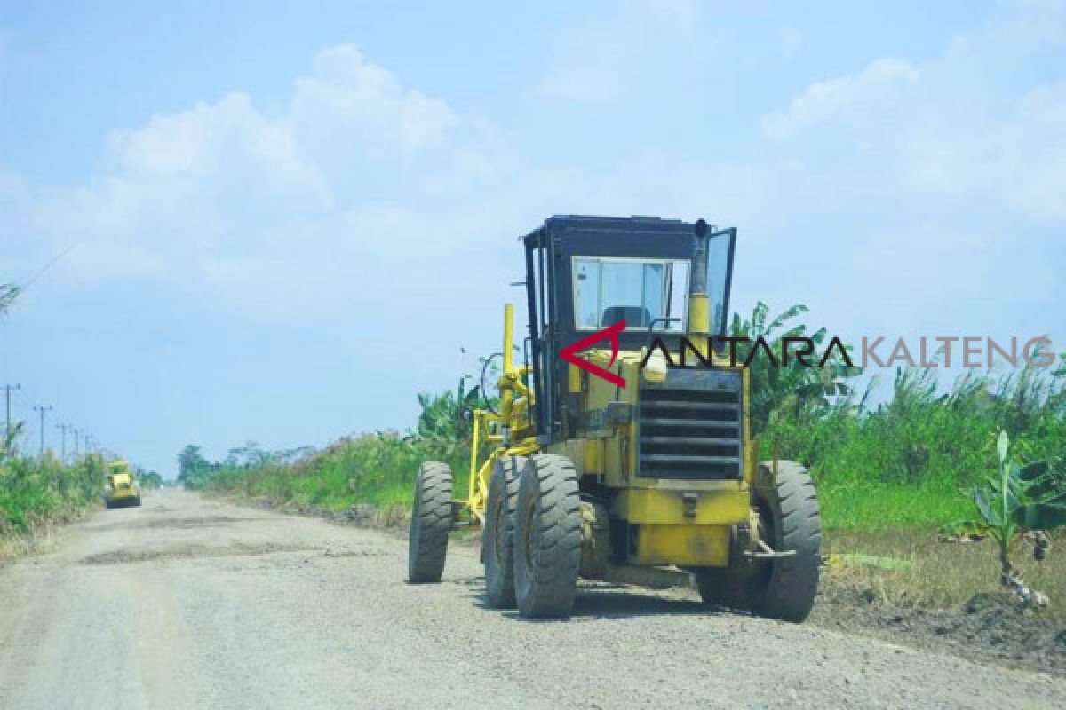
[[[704,309],[701,313],[699,309]],[[693,310],[696,312],[692,313]],[[690,323],[707,323],[706,302],[690,303]],[[706,332],[706,328],[696,329],[692,335],[698,337],[700,330]],[[510,357],[514,349],[514,309],[510,303],[504,307],[503,331],[500,411],[477,410],[473,413],[470,486],[468,498],[462,501],[471,513],[471,522],[484,522],[489,478],[499,457],[542,451],[559,453],[567,457],[583,478],[589,477],[611,492],[607,503],[611,525],[615,530],[627,530],[626,534],[632,540],[621,560],[625,564],[728,565],[730,556],[737,554],[732,542],[738,536],[736,529],[747,528],[750,522],[749,484],[758,456],[756,447],[749,445],[747,370],[733,368],[742,387],[740,422],[744,476],[740,480],[642,478],[637,476],[639,425],[635,417],[629,423],[604,426],[592,436],[555,442],[544,448],[538,445],[528,415],[533,395],[526,379],[531,368],[516,366]],[[626,387],[620,390],[582,368],[569,366],[566,387],[569,394],[580,397],[582,410],[602,410],[619,401],[635,410],[641,404],[641,378],[657,377],[653,367],[640,367],[646,352],[620,351],[613,363],[611,354],[607,349],[593,349],[583,352],[582,357],[623,377]],[[728,360],[713,353],[711,358],[715,367],[730,369]],[[745,530],[745,534],[749,532]]]

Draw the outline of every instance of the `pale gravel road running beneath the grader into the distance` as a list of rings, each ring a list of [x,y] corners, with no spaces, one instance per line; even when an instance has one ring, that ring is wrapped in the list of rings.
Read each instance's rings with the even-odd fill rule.
[[[0,708],[1062,708],[1066,682],[582,587],[569,622],[484,609],[477,550],[166,491],[0,568]]]

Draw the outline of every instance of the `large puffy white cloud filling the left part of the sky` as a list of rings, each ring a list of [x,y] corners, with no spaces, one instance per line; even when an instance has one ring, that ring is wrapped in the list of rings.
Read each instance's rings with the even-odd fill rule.
[[[489,128],[342,45],[319,53],[280,115],[232,94],[154,116],[114,131],[85,184],[21,209],[42,252],[75,244],[62,270],[79,281],[169,278],[229,295],[223,281],[260,295],[257,283],[336,287],[345,283],[338,260],[350,279],[353,261],[402,250],[401,236],[447,244],[433,242],[432,219],[374,195],[418,204],[494,179]],[[0,197],[18,186],[0,172]]]

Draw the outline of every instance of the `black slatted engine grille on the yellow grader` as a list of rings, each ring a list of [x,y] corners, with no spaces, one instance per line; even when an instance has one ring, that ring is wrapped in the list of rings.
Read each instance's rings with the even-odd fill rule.
[[[739,373],[671,370],[662,384],[642,385],[637,417],[641,478],[743,476]]]

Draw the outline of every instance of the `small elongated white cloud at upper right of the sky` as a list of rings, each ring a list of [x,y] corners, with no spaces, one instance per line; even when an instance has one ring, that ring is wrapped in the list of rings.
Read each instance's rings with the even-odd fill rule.
[[[763,118],[763,133],[771,138],[789,138],[830,120],[862,116],[871,109],[891,103],[897,88],[916,84],[920,78],[921,73],[909,62],[877,60],[857,75],[811,84],[792,99],[787,111]]]

